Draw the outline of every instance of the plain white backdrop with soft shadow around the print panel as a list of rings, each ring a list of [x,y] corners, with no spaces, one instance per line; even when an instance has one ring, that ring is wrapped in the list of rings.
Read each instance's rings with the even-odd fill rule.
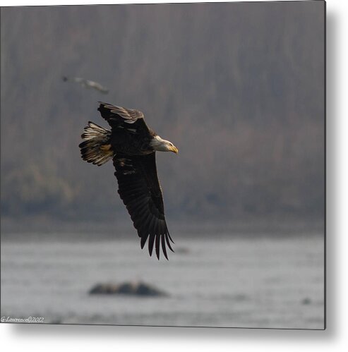
[[[0,0],[1,6],[144,4],[165,1]],[[169,1],[202,2],[202,1]],[[210,1],[218,2],[218,1]],[[328,0],[327,209],[328,329],[289,331],[0,324],[3,351],[347,351],[348,18],[347,0]],[[345,15],[345,16],[344,16]],[[344,114],[345,112],[345,114]]]

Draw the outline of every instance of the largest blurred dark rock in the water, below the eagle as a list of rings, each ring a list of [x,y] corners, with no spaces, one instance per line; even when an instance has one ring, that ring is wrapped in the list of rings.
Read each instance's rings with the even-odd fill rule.
[[[131,295],[131,296],[167,296],[166,293],[143,282],[125,282],[124,284],[97,284],[90,289],[90,295]]]

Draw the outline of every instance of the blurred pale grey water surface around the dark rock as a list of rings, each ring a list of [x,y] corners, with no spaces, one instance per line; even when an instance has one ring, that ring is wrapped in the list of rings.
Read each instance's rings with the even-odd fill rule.
[[[47,323],[323,329],[323,236],[176,241],[169,261],[138,238],[2,241],[1,317]],[[163,298],[90,296],[100,282],[142,280]]]

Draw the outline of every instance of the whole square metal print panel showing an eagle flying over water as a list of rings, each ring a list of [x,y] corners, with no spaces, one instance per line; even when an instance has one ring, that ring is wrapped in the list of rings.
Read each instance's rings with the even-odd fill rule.
[[[1,322],[325,328],[325,2],[1,8]]]

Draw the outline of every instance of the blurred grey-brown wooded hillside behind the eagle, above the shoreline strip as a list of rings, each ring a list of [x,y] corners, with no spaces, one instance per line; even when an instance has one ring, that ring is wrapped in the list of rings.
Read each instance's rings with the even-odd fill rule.
[[[112,164],[80,159],[104,100],[179,147],[172,219],[323,219],[324,92],[323,1],[1,8],[1,217],[128,221]]]

